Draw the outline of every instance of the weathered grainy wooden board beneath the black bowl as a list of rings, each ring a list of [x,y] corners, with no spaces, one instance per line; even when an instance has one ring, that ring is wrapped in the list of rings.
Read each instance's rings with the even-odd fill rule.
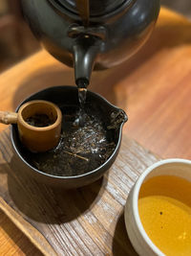
[[[25,175],[13,155],[9,129],[0,134],[0,209],[44,255],[137,255],[123,208],[135,181],[159,157],[123,136],[110,171],[72,191]]]

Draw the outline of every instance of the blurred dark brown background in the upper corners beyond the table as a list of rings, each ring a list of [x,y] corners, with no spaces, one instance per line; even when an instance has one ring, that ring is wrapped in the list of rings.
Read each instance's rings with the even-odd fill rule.
[[[191,18],[191,0],[161,0],[160,2]],[[0,72],[32,55],[39,48],[39,43],[23,20],[19,0],[0,0]]]

